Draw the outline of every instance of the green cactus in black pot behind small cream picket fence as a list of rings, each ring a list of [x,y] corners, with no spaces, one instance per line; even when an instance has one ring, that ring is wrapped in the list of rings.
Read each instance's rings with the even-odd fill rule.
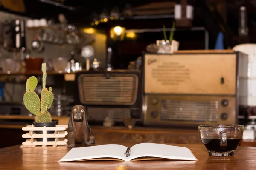
[[[38,94],[35,93],[35,88],[38,84],[38,80],[35,76],[29,77],[26,81],[26,93],[23,96],[23,102],[29,112],[36,115],[35,127],[55,127],[56,121],[52,122],[52,116],[47,111],[53,102],[52,88],[48,89],[46,85],[46,63],[42,64],[43,71],[43,89],[41,91],[41,100]],[[35,133],[42,134],[42,131],[35,131]],[[54,131],[47,131],[47,133],[53,134]],[[37,141],[42,141],[42,138],[37,138]],[[54,141],[54,138],[47,138],[47,141]]]

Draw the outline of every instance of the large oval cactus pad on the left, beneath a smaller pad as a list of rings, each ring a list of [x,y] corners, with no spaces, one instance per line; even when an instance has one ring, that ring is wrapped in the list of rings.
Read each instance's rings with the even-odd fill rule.
[[[27,91],[23,96],[23,102],[31,113],[38,115],[40,112],[40,99],[35,91]]]

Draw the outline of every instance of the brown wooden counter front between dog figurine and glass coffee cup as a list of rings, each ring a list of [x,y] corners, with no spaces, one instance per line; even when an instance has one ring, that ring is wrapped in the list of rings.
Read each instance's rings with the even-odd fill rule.
[[[201,144],[198,130],[155,129],[147,127],[93,127],[95,142],[154,142]]]

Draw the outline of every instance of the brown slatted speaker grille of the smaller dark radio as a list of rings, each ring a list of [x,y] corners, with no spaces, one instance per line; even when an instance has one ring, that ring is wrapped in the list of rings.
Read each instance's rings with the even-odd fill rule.
[[[133,105],[138,91],[135,74],[82,74],[79,98],[84,105]]]

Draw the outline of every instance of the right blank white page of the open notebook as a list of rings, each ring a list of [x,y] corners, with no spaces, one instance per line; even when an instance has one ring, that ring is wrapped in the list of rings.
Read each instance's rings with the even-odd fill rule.
[[[197,160],[186,147],[177,147],[166,144],[141,143],[130,149],[130,157],[159,156],[169,159]]]

